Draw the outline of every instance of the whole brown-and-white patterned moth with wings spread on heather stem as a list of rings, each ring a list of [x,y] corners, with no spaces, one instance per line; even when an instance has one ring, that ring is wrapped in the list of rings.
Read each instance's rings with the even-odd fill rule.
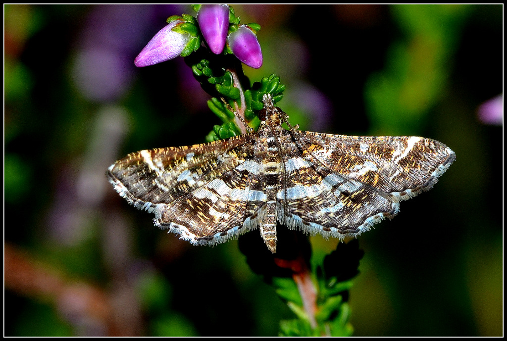
[[[269,94],[263,102],[257,131],[131,153],[107,177],[130,204],[155,213],[155,225],[192,244],[215,245],[259,228],[275,253],[277,224],[356,237],[429,190],[456,159],[429,138],[299,131]]]

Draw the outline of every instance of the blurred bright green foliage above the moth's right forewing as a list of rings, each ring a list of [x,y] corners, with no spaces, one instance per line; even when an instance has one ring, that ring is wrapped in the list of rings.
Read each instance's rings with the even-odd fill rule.
[[[449,77],[448,62],[456,46],[466,5],[394,5],[392,14],[402,39],[391,44],[384,70],[365,89],[371,121],[382,134],[411,134],[438,103]]]

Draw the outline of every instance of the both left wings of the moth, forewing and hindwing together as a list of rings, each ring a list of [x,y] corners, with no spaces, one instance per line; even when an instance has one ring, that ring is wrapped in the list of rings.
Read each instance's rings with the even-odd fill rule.
[[[249,158],[250,138],[142,150],[107,175],[129,203],[155,213],[157,226],[194,244],[225,242],[255,227],[266,201],[260,166]]]

